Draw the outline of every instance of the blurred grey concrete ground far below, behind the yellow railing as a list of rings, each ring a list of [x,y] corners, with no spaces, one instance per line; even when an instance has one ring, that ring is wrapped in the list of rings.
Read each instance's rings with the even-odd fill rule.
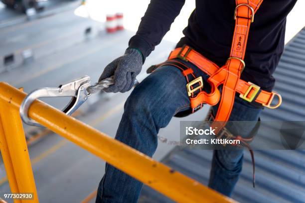
[[[84,30],[88,27],[92,28],[92,34],[86,37]],[[84,75],[89,75],[95,82],[104,67],[124,53],[133,34],[128,30],[107,34],[103,24],[77,17],[73,10],[1,28],[1,60],[13,53],[15,62],[8,66],[0,64],[0,81],[23,87],[27,93],[41,87],[57,87]],[[174,43],[163,41],[156,48],[147,59],[139,81],[147,76],[145,71],[150,65],[166,59],[173,46]],[[24,50],[32,51],[32,62],[23,63],[21,55]],[[82,114],[78,118],[114,137],[129,94],[93,96],[80,109]],[[61,108],[68,100],[44,101]],[[183,120],[202,119],[206,110],[204,108]],[[179,121],[173,118],[167,128],[160,130],[159,136],[178,141]],[[24,128],[25,131],[32,129],[28,126]],[[173,147],[159,141],[153,158],[160,160]],[[104,173],[103,160],[56,134],[49,134],[32,144],[29,153],[41,203],[81,202],[96,190]],[[9,185],[1,163],[0,194],[8,192]]]

